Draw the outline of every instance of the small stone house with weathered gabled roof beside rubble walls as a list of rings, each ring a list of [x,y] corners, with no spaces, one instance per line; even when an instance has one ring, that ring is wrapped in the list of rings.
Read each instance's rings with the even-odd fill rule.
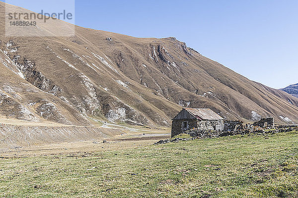
[[[224,118],[209,108],[183,108],[172,119],[172,137],[189,129],[224,130]]]

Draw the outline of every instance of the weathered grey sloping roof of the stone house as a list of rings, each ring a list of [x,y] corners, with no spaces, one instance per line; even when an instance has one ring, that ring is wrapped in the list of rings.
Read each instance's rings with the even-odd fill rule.
[[[224,120],[210,108],[184,108],[199,120]]]

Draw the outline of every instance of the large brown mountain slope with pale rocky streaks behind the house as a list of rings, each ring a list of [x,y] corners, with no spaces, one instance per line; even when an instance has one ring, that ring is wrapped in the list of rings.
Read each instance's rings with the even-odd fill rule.
[[[226,119],[274,116],[280,123],[298,122],[297,98],[250,81],[173,37],[134,38],[60,20],[30,32],[51,34],[64,27],[74,28],[74,36],[6,37],[4,5],[0,2],[2,118],[170,126],[185,106],[211,108]]]

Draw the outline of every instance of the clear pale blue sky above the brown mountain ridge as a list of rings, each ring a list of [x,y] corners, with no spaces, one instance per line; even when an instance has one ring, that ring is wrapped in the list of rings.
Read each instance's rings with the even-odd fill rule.
[[[36,12],[53,2],[16,1]],[[273,88],[298,83],[297,0],[75,0],[75,24],[176,37],[251,80]]]

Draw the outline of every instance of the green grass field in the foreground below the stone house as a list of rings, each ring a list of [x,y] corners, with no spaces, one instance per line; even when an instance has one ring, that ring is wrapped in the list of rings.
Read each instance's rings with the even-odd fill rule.
[[[298,132],[0,159],[0,198],[298,198]]]

